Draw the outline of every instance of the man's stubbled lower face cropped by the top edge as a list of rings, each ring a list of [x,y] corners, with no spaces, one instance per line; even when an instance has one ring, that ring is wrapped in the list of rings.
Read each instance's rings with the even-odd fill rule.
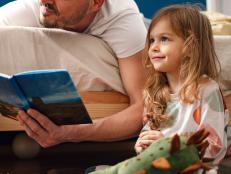
[[[78,30],[89,14],[90,0],[39,0],[40,22],[48,28]]]

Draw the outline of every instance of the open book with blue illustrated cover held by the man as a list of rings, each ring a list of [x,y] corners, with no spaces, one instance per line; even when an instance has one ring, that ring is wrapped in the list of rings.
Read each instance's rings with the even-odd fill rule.
[[[20,109],[33,108],[57,125],[92,123],[64,69],[0,74],[0,113],[16,119]]]

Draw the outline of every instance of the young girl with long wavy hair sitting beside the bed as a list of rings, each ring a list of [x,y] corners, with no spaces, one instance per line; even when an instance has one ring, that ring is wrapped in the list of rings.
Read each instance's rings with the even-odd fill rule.
[[[150,24],[147,49],[146,124],[135,150],[140,153],[161,137],[189,136],[206,128],[205,157],[220,161],[226,152],[228,111],[215,81],[220,64],[208,18],[192,6],[161,9]]]

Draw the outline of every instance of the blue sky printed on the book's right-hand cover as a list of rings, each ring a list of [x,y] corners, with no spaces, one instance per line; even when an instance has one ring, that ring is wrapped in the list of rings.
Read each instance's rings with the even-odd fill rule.
[[[37,71],[17,75],[17,82],[32,101],[38,97],[44,103],[80,102],[80,96],[66,70]]]

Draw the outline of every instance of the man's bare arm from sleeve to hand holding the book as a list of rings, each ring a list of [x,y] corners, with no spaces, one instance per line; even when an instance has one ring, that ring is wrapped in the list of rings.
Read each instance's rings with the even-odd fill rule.
[[[130,99],[129,107],[121,112],[94,120],[93,124],[57,126],[38,111],[29,109],[27,113],[20,111],[18,120],[26,133],[42,147],[67,141],[117,141],[134,137],[142,128],[145,75],[141,55],[142,51],[118,61],[124,88]]]

